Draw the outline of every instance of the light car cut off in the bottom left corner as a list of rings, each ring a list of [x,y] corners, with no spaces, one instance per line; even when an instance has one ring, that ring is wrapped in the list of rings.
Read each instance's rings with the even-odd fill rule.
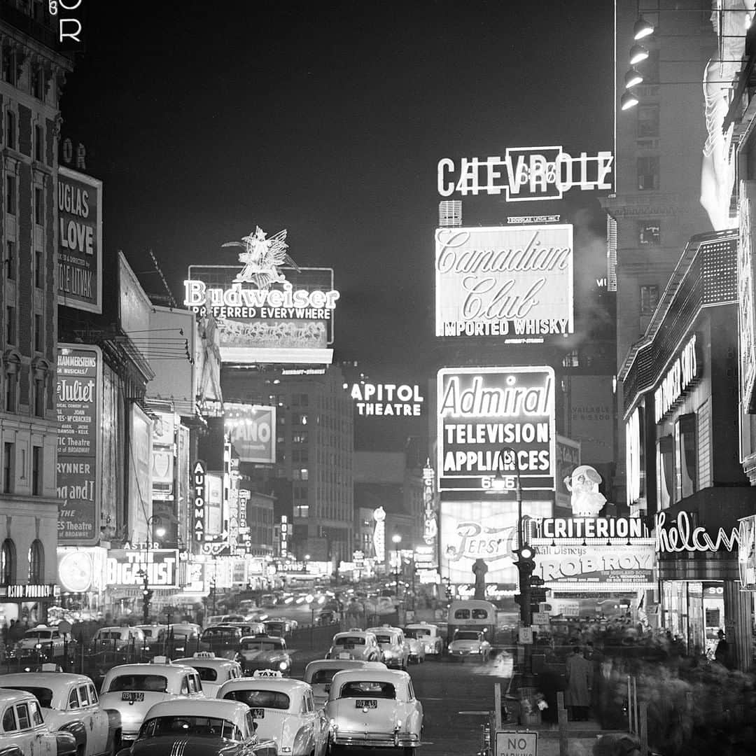
[[[76,738],[54,732],[42,717],[36,696],[25,690],[0,690],[0,751],[21,756],[74,756]]]

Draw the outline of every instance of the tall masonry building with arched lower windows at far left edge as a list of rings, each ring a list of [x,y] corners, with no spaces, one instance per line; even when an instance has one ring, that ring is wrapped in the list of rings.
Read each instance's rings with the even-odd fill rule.
[[[0,17],[0,624],[57,593],[57,129],[73,57],[42,3]]]

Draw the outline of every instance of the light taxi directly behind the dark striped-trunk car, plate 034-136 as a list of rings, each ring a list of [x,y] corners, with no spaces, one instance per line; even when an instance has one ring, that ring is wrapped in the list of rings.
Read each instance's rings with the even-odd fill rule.
[[[134,740],[150,706],[187,696],[205,699],[200,674],[156,656],[150,664],[124,664],[107,671],[100,702],[121,715],[122,741]]]

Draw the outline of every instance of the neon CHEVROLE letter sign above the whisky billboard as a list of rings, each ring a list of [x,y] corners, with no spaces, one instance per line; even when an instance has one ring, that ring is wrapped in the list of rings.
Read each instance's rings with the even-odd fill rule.
[[[504,194],[507,202],[559,200],[572,188],[612,188],[610,152],[573,157],[562,147],[507,147],[504,156],[438,161],[438,194]]]

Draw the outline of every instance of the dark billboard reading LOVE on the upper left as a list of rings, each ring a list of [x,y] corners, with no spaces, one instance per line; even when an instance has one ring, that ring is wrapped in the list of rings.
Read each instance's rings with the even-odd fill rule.
[[[57,172],[57,303],[102,312],[102,181]]]

